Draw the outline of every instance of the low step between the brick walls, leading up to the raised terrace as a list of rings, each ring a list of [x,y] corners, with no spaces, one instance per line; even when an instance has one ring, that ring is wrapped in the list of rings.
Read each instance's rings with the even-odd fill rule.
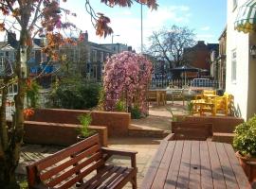
[[[155,129],[147,126],[137,126],[131,124],[128,128],[128,133],[129,136],[164,138],[171,133],[171,130]]]

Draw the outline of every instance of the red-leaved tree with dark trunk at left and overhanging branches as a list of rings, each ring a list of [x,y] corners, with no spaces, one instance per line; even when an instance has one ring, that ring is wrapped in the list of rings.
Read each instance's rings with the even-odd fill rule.
[[[63,0],[65,1],[65,0]],[[102,13],[95,13],[89,0],[85,7],[92,16],[93,25],[99,36],[106,37],[113,31],[108,26],[110,19]],[[109,7],[131,7],[133,2],[156,9],[155,0],[101,0]],[[2,77],[2,104],[0,108],[0,188],[19,188],[15,178],[15,169],[19,163],[21,145],[24,135],[24,98],[27,86],[27,60],[33,46],[33,38],[46,36],[46,46],[43,51],[48,57],[58,60],[58,48],[65,43],[76,43],[67,38],[64,29],[75,27],[64,22],[62,15],[70,14],[62,9],[57,0],[0,0],[0,31],[9,33],[16,30],[19,36],[16,49],[14,73]],[[73,14],[75,15],[75,14]],[[18,84],[18,93],[14,97],[15,112],[12,125],[7,126],[6,102],[8,87],[11,83]]]

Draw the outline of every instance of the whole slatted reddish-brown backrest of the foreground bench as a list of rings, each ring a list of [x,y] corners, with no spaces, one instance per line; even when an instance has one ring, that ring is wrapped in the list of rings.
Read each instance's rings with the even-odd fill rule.
[[[70,188],[104,164],[99,135],[91,136],[27,166],[28,186]],[[86,167],[85,169],[83,169]]]

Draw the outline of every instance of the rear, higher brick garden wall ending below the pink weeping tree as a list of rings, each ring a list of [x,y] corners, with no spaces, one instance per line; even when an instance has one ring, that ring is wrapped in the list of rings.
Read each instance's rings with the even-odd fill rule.
[[[65,109],[35,109],[35,113],[28,121],[80,124],[78,116],[89,111],[65,110]],[[127,112],[91,112],[92,126],[103,126],[107,128],[108,136],[128,135],[128,127],[131,114]]]

